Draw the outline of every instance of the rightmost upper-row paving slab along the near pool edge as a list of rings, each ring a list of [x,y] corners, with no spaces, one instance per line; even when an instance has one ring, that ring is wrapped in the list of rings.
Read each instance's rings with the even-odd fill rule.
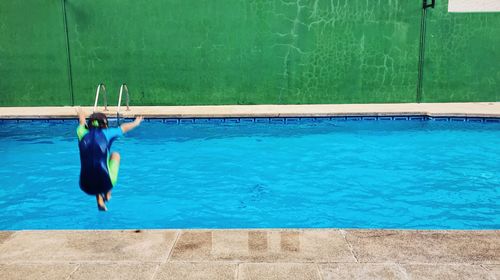
[[[500,264],[500,231],[346,231],[359,262]]]

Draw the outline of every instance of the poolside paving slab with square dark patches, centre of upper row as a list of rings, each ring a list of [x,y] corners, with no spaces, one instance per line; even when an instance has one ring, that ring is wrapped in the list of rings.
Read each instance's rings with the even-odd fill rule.
[[[176,261],[355,262],[340,231],[184,231]]]

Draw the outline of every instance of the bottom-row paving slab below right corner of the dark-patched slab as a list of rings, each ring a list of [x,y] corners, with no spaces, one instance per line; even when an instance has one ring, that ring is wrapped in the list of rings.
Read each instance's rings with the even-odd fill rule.
[[[371,279],[406,280],[404,270],[397,264],[336,263],[319,266],[323,280]]]

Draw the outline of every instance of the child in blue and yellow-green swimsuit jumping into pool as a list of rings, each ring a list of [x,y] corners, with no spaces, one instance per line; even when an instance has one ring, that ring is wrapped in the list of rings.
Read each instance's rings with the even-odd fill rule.
[[[80,119],[76,129],[81,162],[80,188],[89,195],[95,195],[97,208],[106,211],[105,202],[111,199],[111,189],[116,184],[120,167],[120,154],[110,153],[111,144],[124,133],[139,126],[142,117],[120,127],[108,128],[105,114],[93,113],[86,122],[81,108],[77,112]]]

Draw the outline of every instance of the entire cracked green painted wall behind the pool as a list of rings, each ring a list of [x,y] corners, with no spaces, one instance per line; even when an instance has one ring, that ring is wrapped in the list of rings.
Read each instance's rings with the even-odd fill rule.
[[[0,2],[0,106],[415,102],[421,1]],[[427,16],[424,102],[498,101],[500,14]],[[70,72],[73,90],[70,90]]]

